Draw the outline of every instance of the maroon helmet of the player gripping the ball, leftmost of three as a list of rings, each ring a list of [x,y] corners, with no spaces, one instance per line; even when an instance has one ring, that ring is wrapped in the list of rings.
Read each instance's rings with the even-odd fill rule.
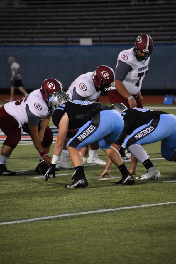
[[[47,102],[51,94],[63,90],[64,88],[62,83],[56,79],[51,78],[43,81],[40,92],[42,94],[43,100]]]

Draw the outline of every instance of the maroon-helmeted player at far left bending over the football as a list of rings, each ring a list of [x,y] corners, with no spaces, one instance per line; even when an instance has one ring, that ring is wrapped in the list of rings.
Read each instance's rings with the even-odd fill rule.
[[[48,98],[55,91],[63,91],[63,86],[56,79],[43,81],[41,89],[34,90],[21,100],[4,104],[0,109],[0,128],[7,136],[0,155],[0,175],[11,176],[16,172],[6,168],[7,160],[21,140],[21,133],[27,132],[31,136],[35,148],[40,154],[40,160],[50,165],[48,156],[53,133],[48,124]]]

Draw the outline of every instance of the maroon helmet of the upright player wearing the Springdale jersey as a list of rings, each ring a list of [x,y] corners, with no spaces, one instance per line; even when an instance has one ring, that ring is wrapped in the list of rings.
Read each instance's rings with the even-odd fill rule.
[[[138,51],[145,53],[144,56],[138,54]],[[134,54],[139,62],[144,62],[150,57],[154,50],[153,39],[148,34],[141,34],[136,38],[134,45]]]

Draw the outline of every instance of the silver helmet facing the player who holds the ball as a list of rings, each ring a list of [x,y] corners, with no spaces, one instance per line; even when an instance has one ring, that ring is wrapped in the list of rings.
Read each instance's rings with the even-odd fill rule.
[[[67,93],[63,91],[54,92],[48,100],[49,113],[52,114],[58,106],[68,101],[71,101],[71,99]]]

